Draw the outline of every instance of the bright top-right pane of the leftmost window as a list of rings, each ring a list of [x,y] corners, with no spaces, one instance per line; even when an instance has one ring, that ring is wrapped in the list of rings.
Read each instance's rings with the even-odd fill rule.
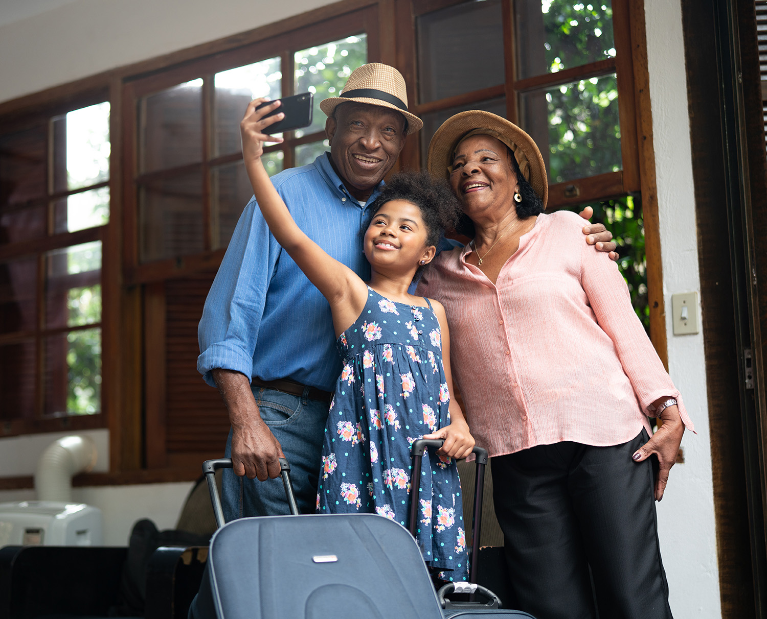
[[[57,172],[54,176],[58,177],[61,170],[64,178],[54,178],[56,190],[78,189],[109,180],[109,103],[74,110],[62,120],[63,135],[54,133],[54,139],[64,140],[63,145],[54,144]]]

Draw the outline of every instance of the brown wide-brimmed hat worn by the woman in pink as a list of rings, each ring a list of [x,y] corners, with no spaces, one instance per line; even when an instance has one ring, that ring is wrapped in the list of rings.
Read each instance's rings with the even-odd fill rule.
[[[514,123],[502,116],[484,110],[469,110],[450,116],[429,144],[428,168],[433,178],[448,178],[453,166],[456,146],[466,137],[476,135],[492,136],[509,146],[519,164],[519,170],[532,186],[546,208],[548,179],[546,165],[532,137]]]

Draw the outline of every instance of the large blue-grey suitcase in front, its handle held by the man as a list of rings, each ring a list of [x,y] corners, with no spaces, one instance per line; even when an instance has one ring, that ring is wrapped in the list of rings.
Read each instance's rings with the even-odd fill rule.
[[[410,532],[375,514],[242,518],[223,524],[209,460],[216,522],[208,569],[219,619],[443,619],[429,572]],[[281,462],[291,513],[290,468]]]

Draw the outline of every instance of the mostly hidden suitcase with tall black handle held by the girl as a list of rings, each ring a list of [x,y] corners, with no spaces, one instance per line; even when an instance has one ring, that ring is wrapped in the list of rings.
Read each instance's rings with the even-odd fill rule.
[[[413,441],[410,448],[410,455],[413,457],[413,476],[412,479],[419,479],[421,474],[421,463],[427,447],[439,449],[443,445],[442,440],[419,439]],[[476,584],[479,574],[480,552],[479,539],[482,529],[482,496],[485,486],[485,467],[487,465],[487,450],[482,447],[474,447],[472,452],[476,456],[476,472],[474,483],[474,509],[472,510],[472,546],[469,552],[469,582],[448,583],[437,591],[439,605],[443,608],[445,617],[529,617],[532,615],[523,611],[507,611],[501,608],[501,600],[498,595],[482,585]],[[410,496],[410,534],[415,537],[416,525],[418,522],[418,505],[416,496]],[[466,522],[466,514],[463,516]],[[468,594],[468,601],[453,601],[448,596],[450,594]],[[476,595],[479,594],[486,601],[476,601]]]

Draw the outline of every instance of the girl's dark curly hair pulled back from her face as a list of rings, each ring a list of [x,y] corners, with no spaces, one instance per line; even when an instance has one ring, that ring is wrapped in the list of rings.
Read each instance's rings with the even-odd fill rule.
[[[370,205],[370,217],[364,225],[363,234],[374,215],[392,200],[405,200],[419,208],[426,226],[427,247],[439,243],[439,237],[446,230],[454,230],[461,213],[458,198],[447,182],[431,178],[427,172],[398,172],[386,182]]]

